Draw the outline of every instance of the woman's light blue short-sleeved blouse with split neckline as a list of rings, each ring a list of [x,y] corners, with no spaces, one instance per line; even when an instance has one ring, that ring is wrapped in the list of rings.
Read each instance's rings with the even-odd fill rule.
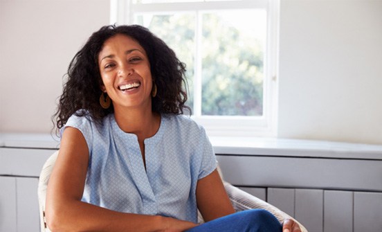
[[[197,181],[215,170],[216,158],[206,132],[189,117],[161,116],[158,132],[145,140],[146,170],[137,136],[123,132],[113,114],[102,124],[73,115],[65,127],[78,128],[89,147],[83,202],[197,222]]]

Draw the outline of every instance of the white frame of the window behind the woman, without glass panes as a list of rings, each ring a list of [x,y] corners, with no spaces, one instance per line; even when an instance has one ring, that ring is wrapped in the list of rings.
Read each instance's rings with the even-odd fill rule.
[[[194,108],[191,118],[205,127],[209,136],[277,136],[278,103],[278,32],[280,0],[223,0],[175,3],[133,4],[132,0],[111,0],[111,24],[131,24],[136,13],[206,12],[261,8],[267,12],[266,52],[264,55],[264,96],[262,116],[202,116],[201,62],[195,60]],[[198,27],[198,23],[197,23]],[[198,36],[196,29],[195,33]],[[196,48],[196,55],[198,50]],[[201,59],[199,59],[201,60]],[[198,70],[199,69],[199,70]],[[200,103],[198,105],[198,102]]]

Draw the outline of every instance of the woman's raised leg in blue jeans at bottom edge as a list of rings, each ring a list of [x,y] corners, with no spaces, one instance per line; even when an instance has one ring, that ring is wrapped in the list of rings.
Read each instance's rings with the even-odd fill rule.
[[[186,232],[281,232],[282,226],[268,211],[252,209],[220,217]]]

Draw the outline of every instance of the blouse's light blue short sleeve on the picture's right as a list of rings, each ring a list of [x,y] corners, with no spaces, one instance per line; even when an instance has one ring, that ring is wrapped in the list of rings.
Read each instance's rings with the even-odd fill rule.
[[[201,138],[203,139],[203,154],[201,157],[201,168],[199,170],[198,179],[202,179],[211,174],[217,168],[217,160],[212,144],[208,139],[206,131],[202,128]]]

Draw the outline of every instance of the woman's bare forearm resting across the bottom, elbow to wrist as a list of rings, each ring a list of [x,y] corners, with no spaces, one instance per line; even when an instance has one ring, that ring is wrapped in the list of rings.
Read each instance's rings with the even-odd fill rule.
[[[46,209],[51,231],[184,231],[196,224],[157,215],[120,213],[84,202]]]

